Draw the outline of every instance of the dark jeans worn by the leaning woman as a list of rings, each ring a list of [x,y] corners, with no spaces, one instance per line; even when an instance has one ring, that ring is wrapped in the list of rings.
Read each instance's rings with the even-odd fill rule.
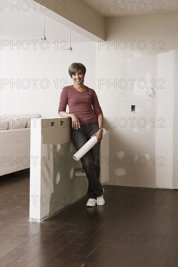
[[[71,141],[78,151],[87,141],[89,141],[92,134],[98,132],[98,122],[81,125],[78,130],[71,127]],[[82,166],[85,170],[89,180],[89,188],[87,195],[89,199],[96,199],[103,195],[103,188],[100,184],[100,142],[95,144],[82,158]]]

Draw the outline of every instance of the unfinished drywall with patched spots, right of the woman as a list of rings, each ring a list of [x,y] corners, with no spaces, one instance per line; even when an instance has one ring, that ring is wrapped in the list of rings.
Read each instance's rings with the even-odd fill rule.
[[[109,184],[178,188],[177,32],[176,12],[107,18],[96,87],[110,131]]]

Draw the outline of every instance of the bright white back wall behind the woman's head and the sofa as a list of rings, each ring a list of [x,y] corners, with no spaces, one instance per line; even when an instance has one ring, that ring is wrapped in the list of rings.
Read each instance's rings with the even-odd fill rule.
[[[95,43],[73,43],[71,52],[61,50],[64,45],[65,43],[59,44],[58,50],[53,43],[50,43],[48,50],[41,49],[39,45],[36,45],[36,50],[33,45],[28,50],[20,46],[19,50],[17,47],[11,50],[10,45],[1,50],[1,115],[40,113],[42,117],[58,117],[62,88],[64,85],[73,84],[68,74],[68,68],[73,62],[81,62],[86,66],[85,84],[94,89]],[[19,88],[13,84],[18,79]],[[32,79],[39,79],[36,81],[36,88]],[[48,83],[43,79],[47,79]],[[53,82],[55,80],[58,81],[57,88],[55,88],[56,83]],[[5,83],[8,84],[5,85]],[[44,88],[48,85],[48,88]],[[26,86],[29,88],[23,88]]]

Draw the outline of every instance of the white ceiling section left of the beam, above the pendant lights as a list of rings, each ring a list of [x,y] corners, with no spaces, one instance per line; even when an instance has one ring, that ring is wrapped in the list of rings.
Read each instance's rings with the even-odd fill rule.
[[[24,1],[25,2],[25,1]],[[25,3],[24,3],[25,9]],[[50,11],[49,11],[50,12]],[[39,40],[43,35],[43,14],[30,8],[28,11],[22,9],[4,8],[0,12],[0,38],[1,40]],[[50,43],[55,40],[66,40],[69,42],[69,28],[48,17],[45,12],[45,36]],[[89,38],[80,33],[71,31],[72,42],[89,42]],[[64,45],[64,43],[63,43]]]

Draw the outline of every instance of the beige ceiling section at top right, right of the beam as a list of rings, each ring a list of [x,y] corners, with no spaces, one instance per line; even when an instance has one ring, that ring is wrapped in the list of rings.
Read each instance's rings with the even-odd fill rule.
[[[138,16],[178,11],[178,0],[83,0],[104,17]]]

